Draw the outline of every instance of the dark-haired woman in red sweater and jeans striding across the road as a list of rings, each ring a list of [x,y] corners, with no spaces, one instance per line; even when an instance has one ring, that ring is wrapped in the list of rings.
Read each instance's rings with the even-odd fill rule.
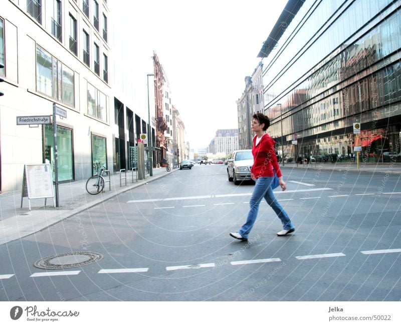
[[[262,198],[265,198],[266,202],[273,208],[283,224],[283,230],[278,232],[277,236],[286,236],[295,231],[287,212],[277,201],[271,187],[274,177],[274,168],[279,178],[281,189],[284,191],[287,188],[282,179],[276,153],[274,151],[274,144],[276,142],[266,133],[266,130],[270,126],[270,120],[261,113],[253,115],[252,118],[252,131],[254,131],[256,135],[253,139],[252,147],[254,164],[251,168],[251,178],[255,181],[255,187],[249,203],[250,210],[247,222],[242,226],[239,232],[230,233],[230,236],[242,241],[248,240],[249,233],[255,224]]]

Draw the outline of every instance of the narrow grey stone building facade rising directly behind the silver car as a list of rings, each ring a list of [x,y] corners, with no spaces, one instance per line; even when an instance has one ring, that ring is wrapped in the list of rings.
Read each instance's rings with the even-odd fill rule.
[[[251,118],[253,113],[253,86],[252,78],[245,77],[245,90],[237,100],[238,116],[238,147],[239,149],[252,148]]]

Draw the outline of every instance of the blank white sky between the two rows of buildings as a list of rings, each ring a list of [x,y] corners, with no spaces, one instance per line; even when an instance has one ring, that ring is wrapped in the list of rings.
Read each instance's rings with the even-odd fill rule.
[[[217,129],[238,128],[236,100],[245,76],[257,67],[262,43],[287,0],[127,3],[123,19],[140,34],[137,42],[146,59],[156,51],[190,147],[208,146]]]

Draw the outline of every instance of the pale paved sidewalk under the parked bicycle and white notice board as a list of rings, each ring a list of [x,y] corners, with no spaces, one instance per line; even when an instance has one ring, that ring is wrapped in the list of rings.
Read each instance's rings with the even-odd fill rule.
[[[135,175],[127,172],[127,178],[121,180],[120,174],[110,176],[104,192],[97,195],[89,194],[85,189],[86,180],[59,184],[59,207],[54,207],[53,198],[31,199],[29,210],[28,197],[23,199],[21,208],[21,190],[0,194],[0,245],[29,236],[56,224],[70,216],[86,210],[119,193],[139,187],[145,183],[157,180],[176,170],[167,172],[165,168],[153,169],[153,175],[146,175],[143,180],[136,180]],[[123,174],[121,177],[124,177]],[[108,180],[108,177],[105,177]],[[125,181],[127,184],[125,185]]]

